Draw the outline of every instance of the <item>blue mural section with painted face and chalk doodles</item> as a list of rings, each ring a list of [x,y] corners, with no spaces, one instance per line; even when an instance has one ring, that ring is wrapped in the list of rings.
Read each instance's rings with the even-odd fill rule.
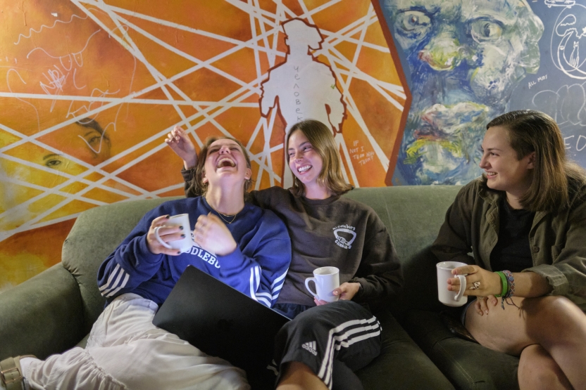
[[[459,184],[482,173],[485,126],[547,112],[586,167],[584,0],[380,0],[413,100],[394,184]]]

